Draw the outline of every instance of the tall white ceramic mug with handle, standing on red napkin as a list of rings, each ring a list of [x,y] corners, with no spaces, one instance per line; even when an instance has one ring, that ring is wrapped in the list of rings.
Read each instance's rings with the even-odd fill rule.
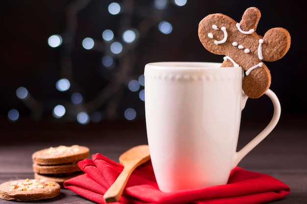
[[[145,66],[145,115],[153,171],[161,191],[227,184],[230,171],[276,126],[281,105],[271,90],[268,126],[236,152],[243,69],[219,63],[157,62]]]

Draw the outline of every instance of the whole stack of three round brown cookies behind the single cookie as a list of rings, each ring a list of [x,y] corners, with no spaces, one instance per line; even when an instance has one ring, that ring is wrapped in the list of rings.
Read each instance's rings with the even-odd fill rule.
[[[84,146],[58,146],[36,151],[32,154],[35,179],[63,182],[82,174],[77,162],[89,156]]]

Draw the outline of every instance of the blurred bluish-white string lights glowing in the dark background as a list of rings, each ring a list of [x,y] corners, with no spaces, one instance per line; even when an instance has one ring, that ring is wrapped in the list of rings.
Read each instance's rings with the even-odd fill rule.
[[[87,5],[91,2],[95,3],[95,1],[89,0],[86,1],[86,3],[83,1],[72,1],[72,3],[67,5],[67,12],[65,17],[66,28],[64,29],[64,33],[63,35],[51,35],[48,38],[48,45],[53,48],[59,47],[63,44],[64,39],[65,44],[62,45],[63,55],[61,55],[62,62],[60,64],[62,69],[60,72],[62,74],[62,78],[56,82],[55,86],[58,91],[67,91],[66,94],[71,94],[71,91],[68,91],[70,89],[74,90],[74,92],[73,94],[69,95],[71,103],[68,102],[65,105],[67,106],[66,108],[70,111],[67,113],[66,108],[63,105],[57,105],[52,110],[52,115],[55,118],[61,118],[65,114],[67,114],[66,117],[76,118],[77,115],[78,123],[87,124],[89,121],[99,122],[102,119],[116,118],[118,116],[118,106],[121,101],[119,98],[121,97],[120,94],[123,92],[122,89],[126,86],[128,78],[135,78],[135,76],[131,76],[131,74],[133,74],[135,68],[135,56],[137,56],[135,47],[137,46],[138,40],[144,39],[144,35],[146,35],[151,28],[154,28],[156,24],[161,21],[161,19],[163,19],[165,12],[168,11],[168,6],[171,6],[171,4],[176,6],[183,6],[187,3],[187,0],[152,1],[154,3],[155,9],[149,9],[148,11],[150,12],[148,12],[148,15],[144,15],[142,12],[136,12],[139,10],[139,5],[137,5],[137,3],[128,5],[125,3],[129,3],[129,1],[123,4],[111,2],[107,6],[108,13],[111,15],[107,21],[114,21],[112,16],[121,14],[120,16],[116,17],[119,22],[115,22],[118,23],[118,25],[121,27],[119,29],[114,28],[114,30],[103,28],[103,32],[101,33],[101,40],[95,39],[94,41],[94,39],[90,36],[82,40],[81,45],[84,49],[93,49],[93,51],[102,52],[102,73],[107,73],[114,76],[111,79],[111,82],[104,86],[97,93],[96,97],[93,97],[94,99],[92,101],[86,102],[82,94],[75,92],[80,91],[80,87],[78,87],[78,84],[76,81],[74,81],[74,63],[71,56],[73,55],[74,44],[78,40],[76,38],[76,36],[78,36],[78,13],[82,9],[86,9]],[[126,8],[124,6],[126,6]],[[133,19],[134,17],[139,18],[140,22],[136,23],[138,21],[132,21],[132,16]],[[141,26],[144,23],[146,23],[147,26]],[[171,34],[173,32],[172,24],[167,21],[161,21],[158,23],[157,28],[163,34]],[[120,39],[118,39],[118,37],[120,37]],[[108,71],[106,72],[104,69],[108,69]],[[129,91],[139,91],[138,96],[141,101],[145,101],[144,86],[145,81],[143,74],[139,75],[136,80],[133,79],[128,82]],[[31,96],[25,87],[18,88],[16,90],[16,95],[19,99],[22,99],[26,107],[31,110],[31,114],[36,115],[35,118],[41,117],[43,108],[40,106],[44,106],[44,104],[41,104],[40,101],[35,100],[35,98]],[[115,95],[116,97],[114,97]],[[97,111],[98,109],[102,109],[102,107],[107,107],[107,110]],[[80,109],[84,110],[84,112],[76,113],[77,110]],[[135,119],[136,115],[137,113],[133,108],[128,108],[124,113],[124,116],[127,120]],[[19,112],[15,109],[12,109],[8,112],[8,118],[10,121],[17,120],[19,118]]]

